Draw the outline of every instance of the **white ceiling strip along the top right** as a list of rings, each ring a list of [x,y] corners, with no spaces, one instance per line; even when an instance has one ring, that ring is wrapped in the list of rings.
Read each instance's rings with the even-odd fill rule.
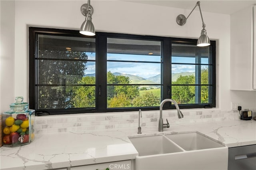
[[[128,2],[168,6],[192,10],[197,0],[124,0]],[[256,5],[256,0],[200,0],[201,10],[220,14],[232,14],[250,5]],[[196,8],[195,10],[199,10]]]

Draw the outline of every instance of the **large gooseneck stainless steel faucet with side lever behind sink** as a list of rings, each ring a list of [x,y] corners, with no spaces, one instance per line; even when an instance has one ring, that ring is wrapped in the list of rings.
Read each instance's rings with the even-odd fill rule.
[[[170,125],[168,123],[168,120],[166,119],[167,124],[164,124],[163,119],[162,119],[163,105],[164,105],[164,103],[166,103],[168,101],[172,102],[175,105],[175,107],[177,109],[177,112],[178,112],[178,118],[180,119],[180,118],[183,117],[183,114],[181,113],[178,104],[174,100],[164,99],[160,104],[160,118],[159,118],[159,123],[158,123],[158,132],[163,132],[164,128],[169,128],[170,127]]]

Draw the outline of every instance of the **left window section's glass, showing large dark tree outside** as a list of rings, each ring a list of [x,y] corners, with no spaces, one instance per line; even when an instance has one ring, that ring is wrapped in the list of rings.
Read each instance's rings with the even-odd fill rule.
[[[95,108],[95,38],[38,34],[37,108]]]

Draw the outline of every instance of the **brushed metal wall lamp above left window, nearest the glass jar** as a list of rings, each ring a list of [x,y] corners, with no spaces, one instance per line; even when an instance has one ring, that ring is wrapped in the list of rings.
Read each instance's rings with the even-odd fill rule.
[[[92,24],[93,8],[90,6],[90,0],[88,0],[88,4],[83,4],[81,6],[81,13],[85,16],[85,20],[81,25],[80,34],[95,36],[95,28]]]

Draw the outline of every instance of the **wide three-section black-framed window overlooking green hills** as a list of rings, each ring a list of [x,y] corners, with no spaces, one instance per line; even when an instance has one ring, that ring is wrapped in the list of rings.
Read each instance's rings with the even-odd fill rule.
[[[215,42],[29,28],[29,104],[37,114],[215,107]],[[174,105],[166,103],[165,109]]]

